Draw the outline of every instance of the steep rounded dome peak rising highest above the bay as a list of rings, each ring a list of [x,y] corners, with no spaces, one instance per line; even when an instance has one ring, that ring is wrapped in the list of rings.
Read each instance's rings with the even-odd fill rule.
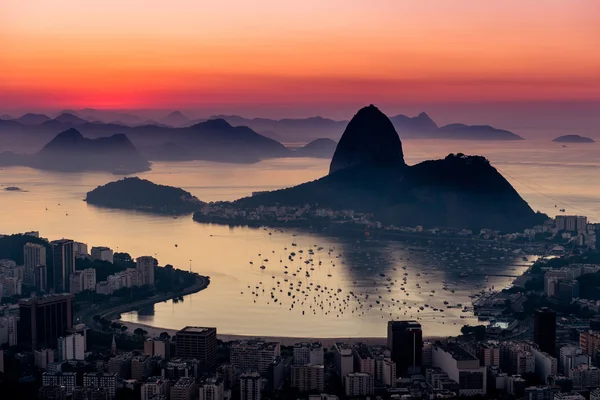
[[[355,165],[406,165],[394,125],[372,104],[360,109],[348,123],[331,159],[329,173]]]

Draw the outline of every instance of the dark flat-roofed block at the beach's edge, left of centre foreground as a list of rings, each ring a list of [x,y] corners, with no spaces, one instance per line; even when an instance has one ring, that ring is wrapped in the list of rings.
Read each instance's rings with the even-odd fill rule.
[[[177,357],[196,359],[204,368],[215,367],[217,359],[217,328],[187,326],[175,334]]]

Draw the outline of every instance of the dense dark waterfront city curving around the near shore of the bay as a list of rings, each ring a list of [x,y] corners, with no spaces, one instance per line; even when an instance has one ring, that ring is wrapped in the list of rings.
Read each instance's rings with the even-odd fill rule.
[[[0,306],[2,383],[41,399],[598,399],[595,229],[585,217],[559,215],[512,236],[429,230],[475,241],[523,235],[542,257],[510,288],[472,296],[462,311],[480,325],[465,325],[457,337],[436,337],[417,320],[391,320],[387,340],[295,344],[222,340],[227,335],[218,327],[186,326],[172,336],[130,332],[112,318],[188,288],[202,290],[208,278],[105,246],[88,254],[86,244],[69,239],[5,235],[4,252],[20,247],[22,254],[0,260],[7,300]],[[182,274],[181,286],[157,290],[165,273]]]

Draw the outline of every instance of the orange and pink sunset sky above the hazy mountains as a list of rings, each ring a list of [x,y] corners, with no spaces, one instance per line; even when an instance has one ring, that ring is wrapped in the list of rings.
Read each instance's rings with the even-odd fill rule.
[[[593,109],[598,21],[598,0],[6,0],[0,113]]]

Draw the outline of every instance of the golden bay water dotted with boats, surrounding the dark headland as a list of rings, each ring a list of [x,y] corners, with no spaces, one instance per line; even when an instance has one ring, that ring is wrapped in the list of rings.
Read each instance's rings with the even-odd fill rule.
[[[597,150],[596,144],[564,148],[534,141],[404,142],[409,164],[443,157],[450,152],[484,155],[532,208],[550,215],[556,214],[559,208],[566,208],[568,213],[588,215],[594,221],[600,220],[600,180],[597,179],[600,152]],[[280,159],[250,166],[156,163],[152,171],[139,176],[182,187],[204,201],[232,200],[248,196],[252,191],[316,179],[326,174],[328,165],[328,160],[316,159]],[[520,259],[482,264],[475,261],[480,256],[477,255],[454,262],[452,257],[444,259],[402,242],[361,238],[357,243],[356,238],[289,229],[280,232],[230,228],[195,223],[191,217],[173,219],[100,209],[82,201],[87,191],[116,178],[104,173],[63,174],[4,168],[0,170],[0,185],[18,186],[25,191],[0,191],[0,232],[39,230],[49,239],[68,237],[88,243],[90,247],[103,245],[127,251],[134,257],[153,255],[160,264],[170,263],[182,269],[191,267],[211,277],[208,289],[187,296],[183,302],[169,301],[139,315],[136,312],[124,315],[129,321],[170,329],[185,325],[217,326],[219,332],[228,334],[371,337],[385,336],[388,319],[412,315],[422,318],[426,335],[456,334],[463,324],[475,321],[460,318],[469,314],[457,308],[447,309],[443,301],[450,305],[469,305],[468,296],[482,286],[501,288],[512,280],[494,275],[516,275],[526,268]],[[318,250],[319,247],[323,249]],[[315,254],[309,255],[309,249]],[[329,249],[332,249],[331,254]],[[288,258],[291,251],[296,252],[294,261]],[[491,254],[484,255],[489,260]],[[269,261],[262,261],[264,259]],[[306,264],[309,259],[312,261]],[[260,269],[260,265],[265,269]],[[402,269],[403,266],[406,269]],[[303,269],[299,270],[300,267]],[[467,268],[471,269],[469,276],[460,277]],[[307,269],[310,277],[305,275]],[[407,274],[406,284],[402,285],[404,274]],[[447,281],[448,290],[442,290],[443,281]],[[405,291],[400,290],[402,286]],[[292,296],[296,297],[292,299]],[[292,304],[294,307],[290,309]],[[430,307],[417,312],[424,304]],[[433,311],[434,307],[445,311]]]

